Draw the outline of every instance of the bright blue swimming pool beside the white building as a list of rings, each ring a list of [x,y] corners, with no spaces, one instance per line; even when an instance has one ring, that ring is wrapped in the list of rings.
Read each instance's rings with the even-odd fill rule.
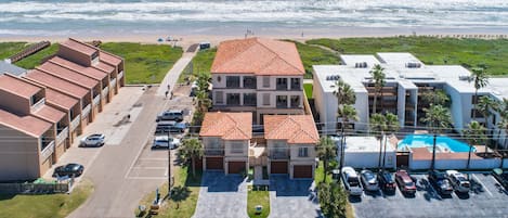
[[[399,151],[408,148],[425,148],[432,151],[433,136],[431,134],[408,134],[399,142]],[[457,141],[450,137],[439,136],[435,140],[437,152],[469,152],[469,144]],[[474,148],[472,149],[474,151]]]

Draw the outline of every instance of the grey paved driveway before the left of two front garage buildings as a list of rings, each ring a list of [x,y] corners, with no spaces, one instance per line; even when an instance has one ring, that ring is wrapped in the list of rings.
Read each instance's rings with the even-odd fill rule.
[[[247,218],[247,184],[238,175],[203,175],[194,218]]]

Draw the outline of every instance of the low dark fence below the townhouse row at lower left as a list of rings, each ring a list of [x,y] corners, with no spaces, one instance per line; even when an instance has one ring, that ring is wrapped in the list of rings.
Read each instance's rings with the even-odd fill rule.
[[[2,194],[52,194],[67,193],[74,182],[65,183],[0,183]]]

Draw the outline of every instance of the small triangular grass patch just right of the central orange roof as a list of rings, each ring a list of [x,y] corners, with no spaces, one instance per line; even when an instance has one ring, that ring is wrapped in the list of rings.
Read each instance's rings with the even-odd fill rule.
[[[339,56],[334,52],[300,42],[295,43],[297,44],[298,53],[300,53],[303,67],[305,67],[305,78],[312,78],[312,65],[340,63]]]

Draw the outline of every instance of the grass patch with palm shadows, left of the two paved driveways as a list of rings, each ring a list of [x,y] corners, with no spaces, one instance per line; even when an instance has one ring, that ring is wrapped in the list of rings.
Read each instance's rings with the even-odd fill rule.
[[[201,171],[196,171],[196,177],[192,177],[192,172],[187,170],[187,167],[177,167],[177,174],[174,175],[173,191],[177,191],[169,204],[162,204],[158,215],[149,216],[145,214],[143,217],[179,217],[179,218],[191,218],[196,210],[197,198],[199,196],[199,187],[201,183]],[[159,188],[161,197],[168,194],[168,183],[164,183]],[[155,190],[145,195],[140,205],[145,205],[149,208],[149,205],[155,198]],[[139,215],[139,210],[135,209],[135,215]]]

